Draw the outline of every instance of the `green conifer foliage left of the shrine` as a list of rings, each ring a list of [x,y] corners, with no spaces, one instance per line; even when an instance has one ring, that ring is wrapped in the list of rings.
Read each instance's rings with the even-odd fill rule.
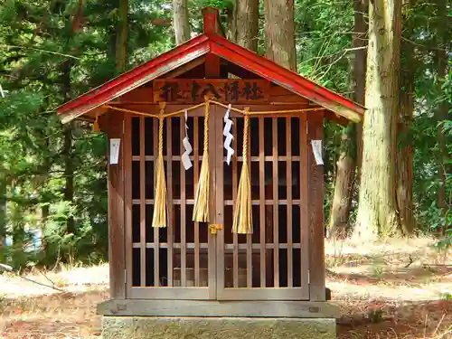
[[[0,260],[15,268],[108,253],[106,137],[61,126],[55,108],[117,75],[118,13],[115,2],[84,2],[74,29],[78,10],[76,0],[0,1]],[[171,47],[156,17],[171,11],[129,1],[128,68]]]

